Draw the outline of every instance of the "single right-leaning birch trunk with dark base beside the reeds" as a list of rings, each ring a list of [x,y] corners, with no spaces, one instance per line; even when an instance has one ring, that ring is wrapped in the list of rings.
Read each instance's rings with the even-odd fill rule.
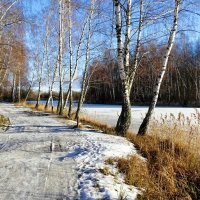
[[[164,77],[165,72],[167,70],[167,64],[168,64],[169,56],[170,56],[170,53],[171,53],[171,50],[172,50],[172,47],[173,47],[173,44],[174,44],[176,32],[177,32],[178,16],[179,16],[181,3],[182,3],[182,0],[175,0],[173,25],[172,25],[172,28],[171,28],[171,31],[170,31],[168,44],[167,44],[167,47],[166,47],[166,52],[165,52],[165,55],[163,57],[163,64],[162,64],[162,67],[161,67],[160,74],[157,78],[156,85],[154,87],[153,98],[151,100],[148,112],[147,112],[142,124],[140,125],[138,135],[145,135],[146,134],[150,120],[151,120],[151,117],[152,117],[152,114],[153,114],[153,111],[154,111],[154,108],[155,108],[156,103],[158,101],[160,86],[162,84],[163,77]]]

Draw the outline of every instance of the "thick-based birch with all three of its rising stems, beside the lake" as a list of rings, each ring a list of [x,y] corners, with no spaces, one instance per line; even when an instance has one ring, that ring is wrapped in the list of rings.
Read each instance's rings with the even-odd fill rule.
[[[137,44],[135,49],[134,67],[130,68],[130,39],[131,39],[131,9],[132,1],[126,2],[126,31],[125,31],[125,43],[123,44],[123,27],[121,17],[121,2],[120,0],[113,0],[115,7],[115,29],[117,37],[117,61],[118,71],[121,80],[122,88],[122,110],[116,125],[116,132],[118,135],[124,136],[131,123],[131,103],[130,103],[130,91],[132,88],[132,82],[134,74],[137,70],[139,51],[140,51],[140,37],[142,31],[142,15],[143,15],[143,0],[140,0],[140,19],[139,29],[137,35]]]

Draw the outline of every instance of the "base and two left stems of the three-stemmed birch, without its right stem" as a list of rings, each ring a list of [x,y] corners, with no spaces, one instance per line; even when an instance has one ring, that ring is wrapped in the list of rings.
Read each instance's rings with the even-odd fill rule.
[[[131,123],[131,104],[126,69],[129,68],[129,45],[130,45],[130,20],[131,20],[131,0],[127,1],[126,17],[126,36],[125,51],[123,52],[122,26],[121,26],[121,5],[119,0],[113,0],[115,5],[116,35],[117,35],[117,53],[118,69],[122,87],[122,110],[117,121],[116,132],[124,136]]]

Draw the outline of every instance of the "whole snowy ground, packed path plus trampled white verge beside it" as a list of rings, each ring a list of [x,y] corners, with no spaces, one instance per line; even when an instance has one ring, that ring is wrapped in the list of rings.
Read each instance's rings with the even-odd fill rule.
[[[0,132],[0,199],[136,197],[138,190],[104,164],[107,158],[136,153],[124,138],[74,130],[73,122],[11,104],[0,103],[0,113],[12,123]],[[108,175],[100,172],[106,168]]]

